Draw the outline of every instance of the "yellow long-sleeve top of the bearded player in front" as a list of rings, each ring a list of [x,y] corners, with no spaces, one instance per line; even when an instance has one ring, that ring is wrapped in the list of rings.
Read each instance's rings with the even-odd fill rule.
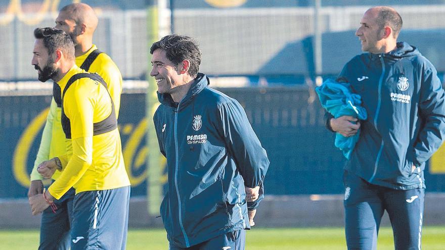
[[[75,74],[84,73],[74,66],[57,83],[61,90]],[[113,189],[130,185],[122,156],[118,129],[93,136],[93,123],[106,119],[112,110],[110,95],[101,83],[80,78],[66,90],[63,110],[70,120],[71,145],[59,156],[63,171],[48,188],[56,199],[72,186],[76,193]]]

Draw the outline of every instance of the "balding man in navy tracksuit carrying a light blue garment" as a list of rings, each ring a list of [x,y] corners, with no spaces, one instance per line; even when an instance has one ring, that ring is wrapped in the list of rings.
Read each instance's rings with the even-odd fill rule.
[[[369,53],[349,61],[337,81],[362,96],[368,119],[327,115],[328,128],[344,136],[361,129],[344,171],[348,249],[376,249],[384,210],[395,248],[421,248],[423,171],[444,138],[445,99],[434,66],[416,47],[396,42],[400,28],[392,8],[365,13],[356,35]]]

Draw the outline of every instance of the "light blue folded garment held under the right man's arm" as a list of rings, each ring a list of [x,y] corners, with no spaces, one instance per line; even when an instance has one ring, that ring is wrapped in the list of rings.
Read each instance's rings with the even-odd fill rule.
[[[323,85],[316,87],[315,91],[320,98],[322,107],[334,118],[353,116],[359,120],[366,120],[367,113],[365,108],[362,107],[362,97],[359,94],[352,93],[349,83],[327,79],[323,82]],[[335,146],[340,148],[343,155],[349,160],[359,137],[360,129],[357,134],[351,137],[344,137],[336,133]]]

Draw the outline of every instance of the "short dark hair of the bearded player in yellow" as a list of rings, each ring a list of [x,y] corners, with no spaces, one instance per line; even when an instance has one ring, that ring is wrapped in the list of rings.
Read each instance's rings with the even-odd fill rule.
[[[61,49],[66,58],[74,59],[74,43],[65,31],[56,28],[36,28],[35,39],[43,39],[43,45],[48,49],[48,55],[56,49]]]

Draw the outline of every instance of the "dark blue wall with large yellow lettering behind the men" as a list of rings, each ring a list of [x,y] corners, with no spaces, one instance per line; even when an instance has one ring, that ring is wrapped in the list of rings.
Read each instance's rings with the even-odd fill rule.
[[[268,152],[271,165],[265,180],[269,194],[342,193],[344,158],[333,146],[334,135],[323,123],[318,99],[304,87],[221,89],[245,107],[252,127]],[[0,198],[26,197],[28,178],[43,122],[33,123],[49,106],[49,96],[0,96]],[[119,126],[131,194],[145,195],[145,94],[122,94]],[[42,115],[42,117],[44,117]],[[35,124],[35,125],[34,125]],[[32,139],[32,135],[35,138]],[[28,138],[20,140],[20,138]],[[127,143],[138,143],[130,152]],[[26,149],[13,159],[19,149]],[[155,148],[158,150],[158,148]],[[24,164],[20,164],[25,162]],[[16,170],[14,170],[16,169]],[[428,191],[445,191],[445,174],[425,173]],[[22,184],[21,184],[22,183]]]

